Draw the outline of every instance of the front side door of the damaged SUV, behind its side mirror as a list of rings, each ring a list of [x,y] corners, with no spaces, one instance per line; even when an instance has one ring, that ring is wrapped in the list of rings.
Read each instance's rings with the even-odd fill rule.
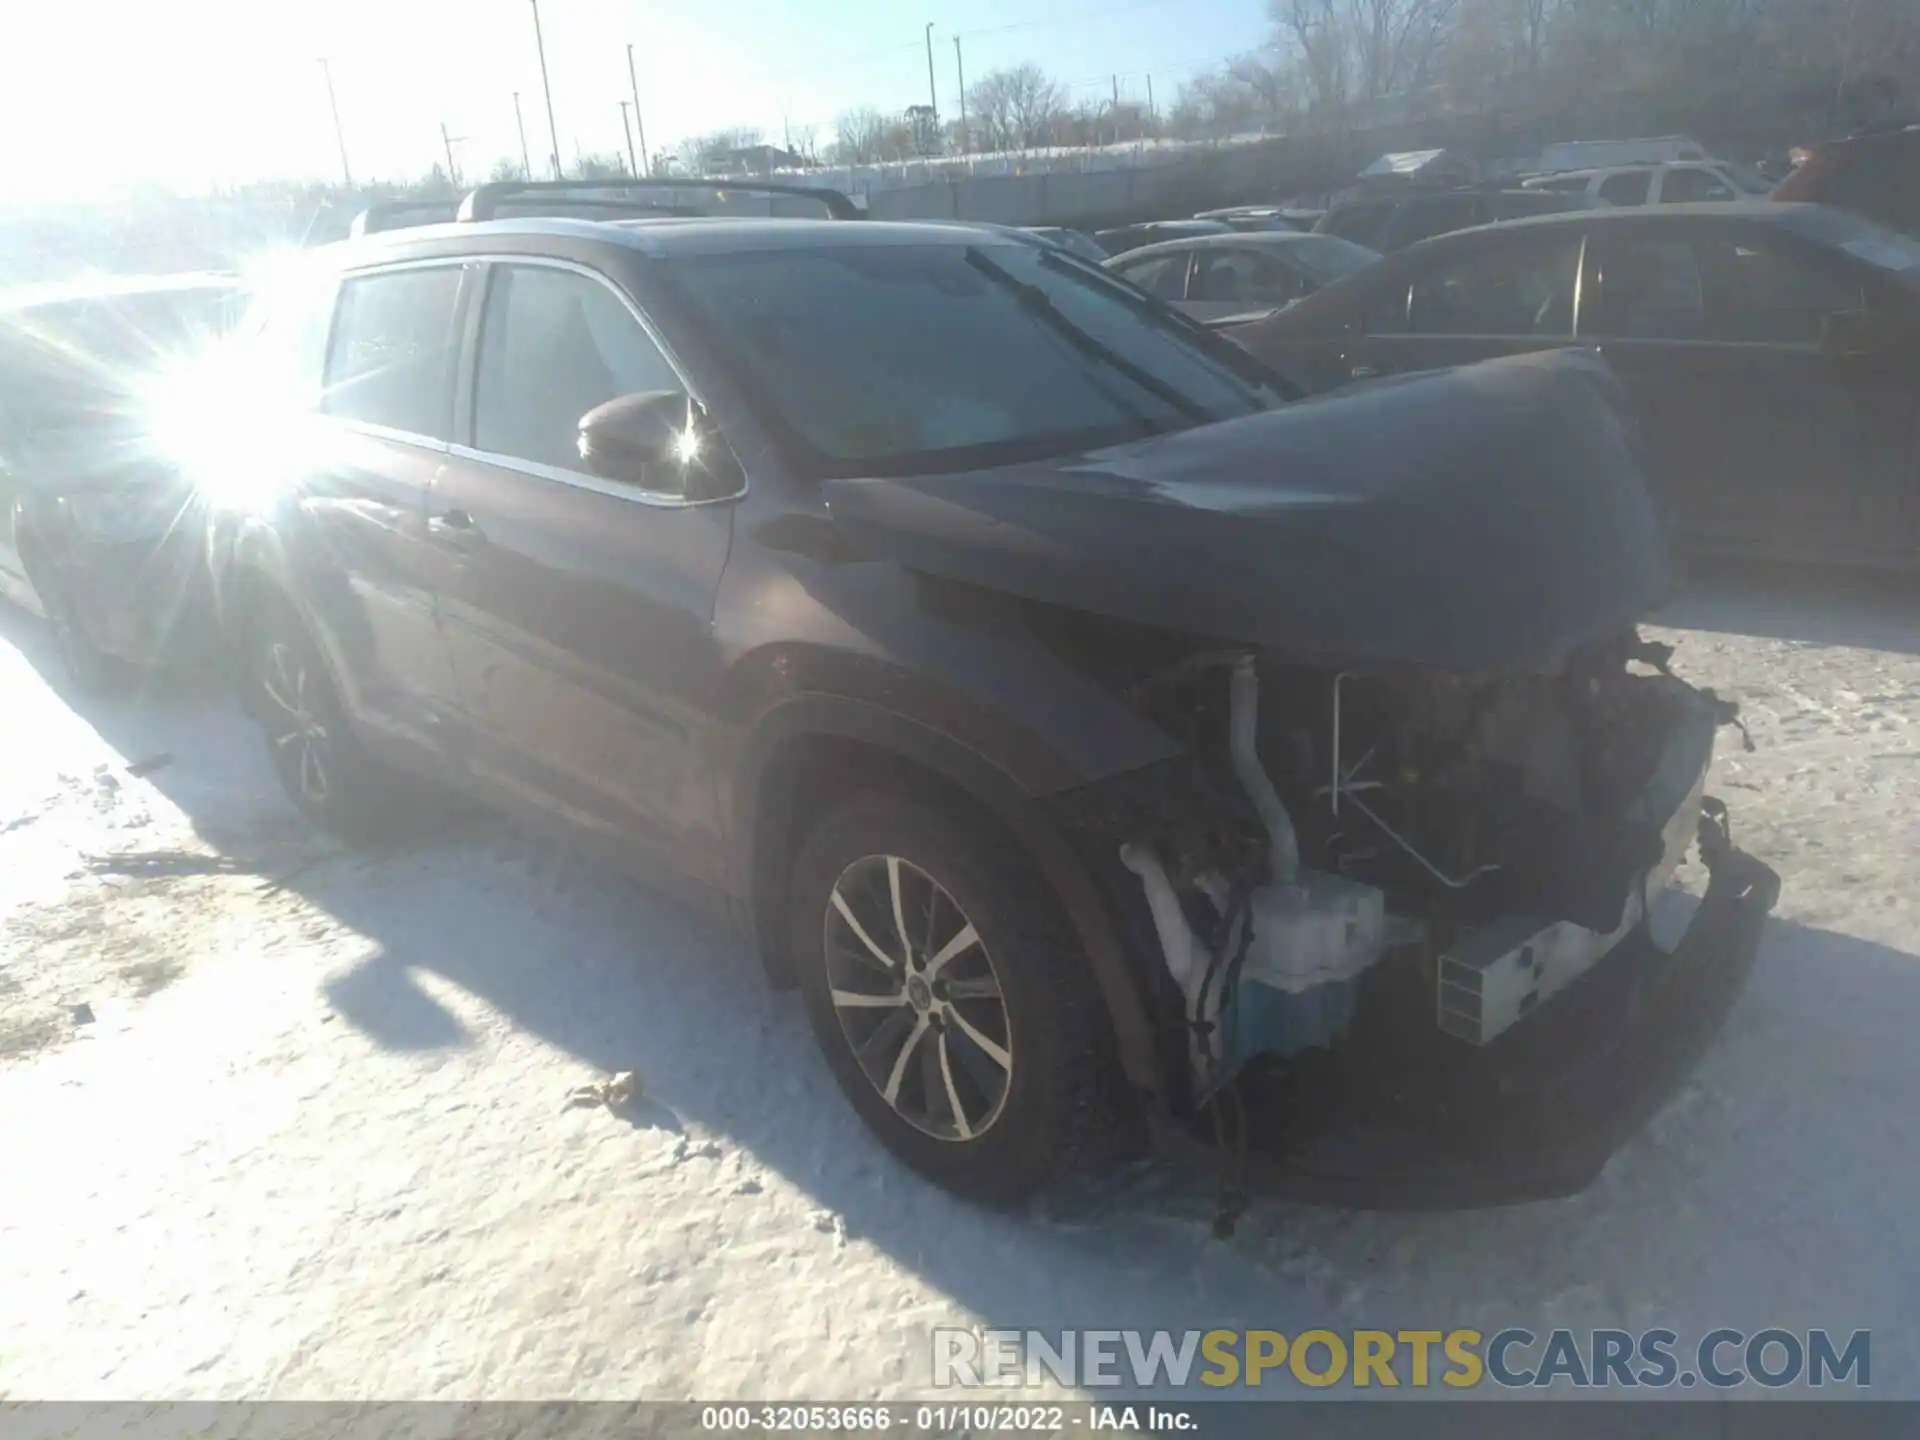
[[[578,455],[586,411],[685,386],[611,280],[551,263],[490,267],[474,355],[430,518],[468,770],[522,810],[718,874],[703,739],[732,505],[601,480]]]

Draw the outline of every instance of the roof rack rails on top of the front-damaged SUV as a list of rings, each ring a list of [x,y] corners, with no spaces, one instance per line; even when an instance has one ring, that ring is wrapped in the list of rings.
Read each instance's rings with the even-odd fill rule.
[[[866,211],[841,190],[774,180],[714,180],[674,177],[639,180],[614,177],[601,180],[490,180],[461,200],[390,200],[369,205],[353,217],[351,236],[403,230],[415,225],[478,223],[505,215],[578,215],[593,219],[708,217],[710,204],[685,204],[676,192],[705,192],[726,204],[728,196],[766,196],[768,200],[808,200],[829,219],[858,221]],[[649,196],[662,196],[659,200]],[[722,211],[724,213],[724,211]]]

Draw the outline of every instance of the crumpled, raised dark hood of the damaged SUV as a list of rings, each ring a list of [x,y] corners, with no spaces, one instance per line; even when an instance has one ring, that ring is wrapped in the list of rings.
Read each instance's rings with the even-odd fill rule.
[[[1572,349],[824,493],[868,555],[1298,662],[1551,672],[1668,589],[1624,394]]]

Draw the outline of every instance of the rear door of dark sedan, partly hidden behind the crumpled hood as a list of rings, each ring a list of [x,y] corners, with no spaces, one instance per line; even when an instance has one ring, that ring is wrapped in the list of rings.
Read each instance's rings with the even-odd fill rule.
[[[1467,365],[1576,342],[1584,238],[1576,227],[1494,230],[1446,244],[1380,292],[1344,353],[1346,376]]]

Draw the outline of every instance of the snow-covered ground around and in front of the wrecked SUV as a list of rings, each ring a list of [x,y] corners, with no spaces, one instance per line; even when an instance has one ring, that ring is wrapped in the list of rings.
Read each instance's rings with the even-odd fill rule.
[[[1786,876],[1693,1083],[1572,1200],[1219,1242],[1156,1167],[945,1198],[697,918],[486,822],[336,854],[223,703],[75,712],[0,612],[0,1398],[902,1398],[935,1325],[1824,1325],[1916,1396],[1920,599],[1665,620]]]

